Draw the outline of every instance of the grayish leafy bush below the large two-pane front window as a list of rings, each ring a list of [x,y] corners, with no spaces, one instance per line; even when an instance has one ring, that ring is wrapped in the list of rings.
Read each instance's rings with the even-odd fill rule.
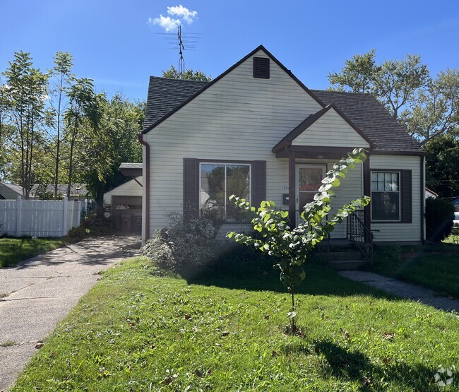
[[[199,217],[169,213],[172,225],[157,230],[143,247],[143,254],[157,267],[189,274],[215,260],[214,244],[221,221],[211,213]]]

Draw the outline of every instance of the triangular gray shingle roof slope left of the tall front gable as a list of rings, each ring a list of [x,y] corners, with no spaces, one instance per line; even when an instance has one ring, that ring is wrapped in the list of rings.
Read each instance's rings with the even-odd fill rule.
[[[206,84],[208,82],[150,76],[143,129],[155,124]]]

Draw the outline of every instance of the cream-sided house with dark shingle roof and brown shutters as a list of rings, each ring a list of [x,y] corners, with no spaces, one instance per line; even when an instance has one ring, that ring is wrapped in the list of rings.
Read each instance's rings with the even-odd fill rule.
[[[210,83],[150,77],[143,144],[143,240],[168,211],[216,209],[240,230],[228,196],[275,201],[292,224],[334,162],[369,158],[336,189],[334,208],[366,194],[375,242],[424,239],[425,153],[368,94],[309,90],[263,46]],[[361,227],[362,228],[362,227]],[[332,238],[346,238],[342,222]]]

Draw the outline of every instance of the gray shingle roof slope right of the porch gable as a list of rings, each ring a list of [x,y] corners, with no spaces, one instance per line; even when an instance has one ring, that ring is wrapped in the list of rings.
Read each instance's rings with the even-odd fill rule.
[[[378,151],[422,153],[415,139],[373,95],[311,90],[326,105],[334,103],[377,147]]]

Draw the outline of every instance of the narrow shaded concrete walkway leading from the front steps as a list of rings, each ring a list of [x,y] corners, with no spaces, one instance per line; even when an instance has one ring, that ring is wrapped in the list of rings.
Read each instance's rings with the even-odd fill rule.
[[[365,283],[371,287],[376,287],[379,290],[398,295],[407,299],[422,302],[423,304],[431,305],[436,309],[445,311],[459,311],[459,299],[451,299],[439,297],[439,295],[424,287],[405,283],[386,276],[377,275],[376,273],[365,271],[340,271],[340,275],[344,278]]]

